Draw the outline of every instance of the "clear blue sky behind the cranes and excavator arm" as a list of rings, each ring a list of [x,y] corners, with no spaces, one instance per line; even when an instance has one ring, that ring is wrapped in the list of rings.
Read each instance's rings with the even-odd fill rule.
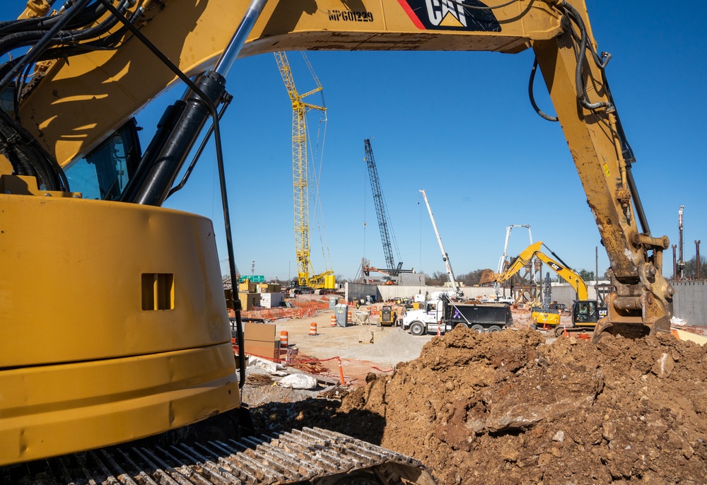
[[[20,11],[23,2],[12,3]],[[689,259],[694,240],[707,243],[707,7],[587,3],[599,49],[614,56],[607,76],[638,160],[633,173],[650,228],[677,244],[677,212],[684,204]],[[11,9],[5,11],[9,16]],[[311,89],[300,54],[288,57],[300,92]],[[533,239],[546,242],[572,267],[595,269],[599,233],[566,141],[559,125],[539,118],[528,101],[532,52],[310,52],[308,57],[328,109],[320,197],[334,273],[353,277],[361,257],[385,267],[363,161],[365,138],[372,139],[404,267],[444,271],[419,193],[426,189],[456,274],[496,269],[510,224],[530,224]],[[239,59],[227,88],[235,96],[222,132],[236,263],[243,274],[250,274],[255,260],[255,274],[296,276],[291,105],[272,54]],[[554,112],[539,77],[536,93],[541,107]],[[159,109],[139,115],[146,131],[167,98],[155,103]],[[225,258],[213,153],[204,154],[189,185],[167,206],[214,219]],[[329,265],[313,216],[310,226],[312,263],[319,272]],[[527,244],[527,231],[514,230],[509,254]],[[607,267],[600,246],[600,273]],[[672,275],[670,249],[664,274]]]

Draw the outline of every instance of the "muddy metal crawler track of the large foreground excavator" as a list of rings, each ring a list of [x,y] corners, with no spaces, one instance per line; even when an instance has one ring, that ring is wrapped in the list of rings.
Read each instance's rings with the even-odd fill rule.
[[[2,469],[3,484],[210,485],[436,482],[421,462],[321,428],[192,445],[101,448]]]

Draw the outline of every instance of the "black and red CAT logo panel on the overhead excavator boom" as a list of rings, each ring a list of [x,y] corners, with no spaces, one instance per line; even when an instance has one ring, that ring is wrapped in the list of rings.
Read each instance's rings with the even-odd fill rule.
[[[493,11],[481,0],[398,0],[421,30],[501,32]],[[473,7],[473,8],[469,8]]]

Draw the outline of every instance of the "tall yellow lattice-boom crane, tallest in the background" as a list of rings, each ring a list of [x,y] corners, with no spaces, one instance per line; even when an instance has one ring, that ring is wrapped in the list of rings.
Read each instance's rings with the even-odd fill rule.
[[[282,81],[292,102],[292,186],[295,201],[295,255],[297,258],[297,281],[300,286],[309,288],[334,288],[334,271],[327,270],[313,274],[309,244],[309,177],[307,151],[307,113],[310,110],[326,112],[323,106],[305,103],[309,95],[322,91],[322,84],[314,74],[309,60],[303,54],[310,68],[317,87],[304,94],[299,94],[292,77],[292,69],[284,52],[274,52]]]

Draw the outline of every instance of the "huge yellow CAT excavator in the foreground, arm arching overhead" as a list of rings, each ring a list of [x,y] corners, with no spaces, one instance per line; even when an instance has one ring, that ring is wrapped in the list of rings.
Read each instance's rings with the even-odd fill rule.
[[[331,431],[245,436],[245,361],[233,358],[213,223],[162,207],[213,136],[235,274],[219,120],[238,57],[532,49],[556,115],[532,104],[559,121],[617,288],[595,338],[669,330],[668,239],[643,214],[610,55],[583,0],[30,0],[19,16],[2,11],[4,483],[433,483],[416,460]],[[176,83],[185,93],[143,151],[134,117]]]

